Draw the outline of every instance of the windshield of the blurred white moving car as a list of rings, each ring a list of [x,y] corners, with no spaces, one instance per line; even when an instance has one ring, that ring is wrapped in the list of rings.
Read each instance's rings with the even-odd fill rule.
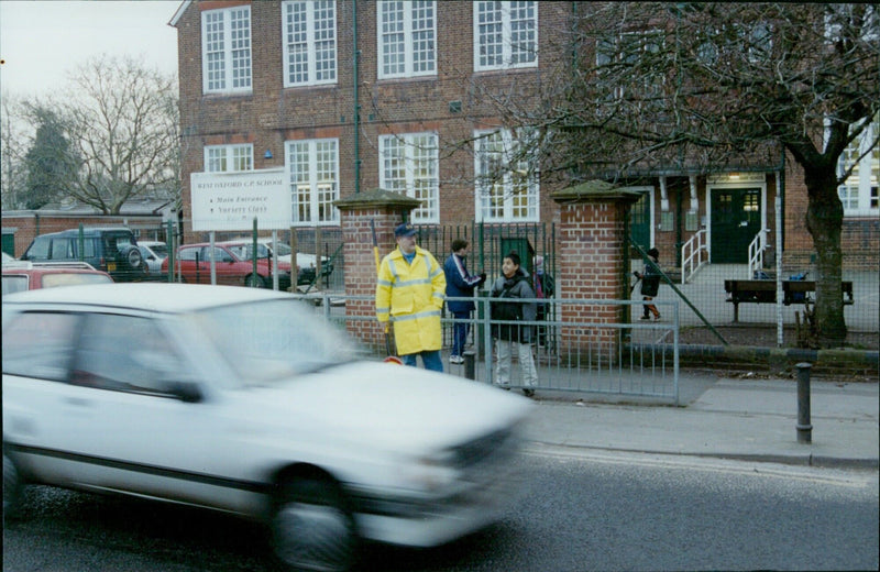
[[[350,362],[360,353],[312,306],[293,298],[212,308],[191,319],[246,385],[282,382]]]

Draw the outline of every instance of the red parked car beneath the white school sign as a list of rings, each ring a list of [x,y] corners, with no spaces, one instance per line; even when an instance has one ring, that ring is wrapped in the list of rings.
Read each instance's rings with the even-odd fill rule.
[[[272,288],[272,258],[263,244],[257,244],[256,275],[253,272],[253,243],[217,242],[213,245],[217,284]],[[162,262],[162,274],[168,272],[169,258]],[[211,245],[207,242],[184,244],[177,249],[174,273],[182,282],[190,284],[211,283]],[[278,289],[290,287],[290,263],[278,261]]]

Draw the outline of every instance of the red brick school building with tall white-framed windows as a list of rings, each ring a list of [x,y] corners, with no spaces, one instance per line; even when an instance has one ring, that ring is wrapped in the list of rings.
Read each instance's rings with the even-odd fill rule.
[[[184,1],[170,24],[185,219],[191,173],[283,167],[298,232],[338,228],[332,202],[373,188],[421,200],[418,226],[559,221],[550,193],[564,182],[518,177],[517,168],[488,183],[481,175],[517,144],[491,95],[527,97],[576,3]],[[855,190],[842,189],[855,197],[845,200],[845,267],[880,264],[877,164],[875,152]],[[795,267],[813,250],[802,177],[788,158],[743,173],[642,178],[631,187],[642,199],[630,230],[669,267],[695,237],[710,262],[746,263],[756,237],[773,246],[784,185],[785,263]],[[187,240],[204,238],[185,228]]]

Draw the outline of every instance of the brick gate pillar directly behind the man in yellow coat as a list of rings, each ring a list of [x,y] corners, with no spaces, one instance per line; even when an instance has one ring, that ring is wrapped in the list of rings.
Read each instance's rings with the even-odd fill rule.
[[[397,246],[394,228],[421,202],[417,199],[374,189],[333,202],[340,211],[345,260],[345,328],[350,336],[384,351],[384,329],[376,320],[376,260],[373,230],[376,229],[380,260]],[[351,297],[361,297],[352,299]]]

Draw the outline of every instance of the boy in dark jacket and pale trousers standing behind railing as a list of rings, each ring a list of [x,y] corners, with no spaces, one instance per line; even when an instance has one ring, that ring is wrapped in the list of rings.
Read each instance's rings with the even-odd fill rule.
[[[538,371],[531,355],[531,342],[535,338],[535,327],[524,323],[503,322],[530,322],[535,321],[537,305],[535,301],[519,301],[534,299],[535,290],[529,285],[528,276],[519,266],[519,255],[510,252],[504,256],[502,264],[503,275],[495,280],[490,292],[490,297],[497,298],[492,301],[492,320],[498,323],[492,326],[492,337],[495,339],[495,384],[510,388],[510,364],[513,351],[516,350],[519,359],[519,369],[522,372],[522,393],[531,397],[538,386]]]

